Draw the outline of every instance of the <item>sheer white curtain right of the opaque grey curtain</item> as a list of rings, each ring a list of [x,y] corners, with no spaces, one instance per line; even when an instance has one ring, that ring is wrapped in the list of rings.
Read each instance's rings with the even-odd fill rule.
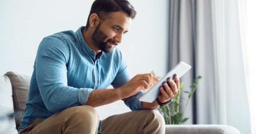
[[[215,48],[216,94],[215,111],[218,124],[236,127],[241,133],[250,134],[250,110],[247,96],[242,45],[244,23],[240,19],[238,3],[241,0],[212,1]],[[223,92],[225,91],[225,92]],[[225,102],[225,103],[223,103]]]

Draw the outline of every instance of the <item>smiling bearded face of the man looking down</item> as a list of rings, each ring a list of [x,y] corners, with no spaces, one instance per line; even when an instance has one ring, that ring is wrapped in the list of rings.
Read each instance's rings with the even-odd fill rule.
[[[124,12],[112,12],[110,18],[100,22],[92,35],[95,47],[103,52],[112,52],[122,42],[123,34],[128,32],[132,19]]]

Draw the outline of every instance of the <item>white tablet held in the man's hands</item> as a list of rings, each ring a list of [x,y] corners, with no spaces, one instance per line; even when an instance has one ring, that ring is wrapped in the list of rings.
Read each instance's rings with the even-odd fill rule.
[[[160,79],[153,87],[148,89],[147,92],[144,92],[143,96],[139,98],[139,101],[142,102],[153,102],[160,94],[159,87],[163,85],[163,82],[167,82],[167,78],[171,77],[173,79],[174,74],[178,74],[178,77],[181,78],[191,66],[187,65],[184,62],[179,62],[170,72],[168,72],[162,79]]]

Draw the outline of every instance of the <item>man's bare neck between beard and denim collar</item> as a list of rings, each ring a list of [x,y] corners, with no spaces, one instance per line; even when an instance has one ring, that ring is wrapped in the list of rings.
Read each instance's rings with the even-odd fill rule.
[[[92,40],[92,35],[93,35],[93,31],[90,29],[82,29],[82,36],[84,38],[84,41],[87,43],[87,45],[94,51],[96,52],[96,56],[97,57],[99,55],[99,53],[101,52],[101,50],[99,50],[97,47],[95,47],[94,42]]]

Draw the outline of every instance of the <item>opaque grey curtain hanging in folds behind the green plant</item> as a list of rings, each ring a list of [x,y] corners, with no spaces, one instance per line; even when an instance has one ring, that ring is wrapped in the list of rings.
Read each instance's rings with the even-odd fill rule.
[[[170,0],[169,2],[169,70],[183,61],[192,66],[181,82],[183,91],[190,91],[193,79],[203,78],[191,99],[184,124],[215,124],[215,85],[213,64],[213,36],[210,0]],[[188,94],[182,93],[182,98]],[[181,99],[181,109],[186,104]]]

